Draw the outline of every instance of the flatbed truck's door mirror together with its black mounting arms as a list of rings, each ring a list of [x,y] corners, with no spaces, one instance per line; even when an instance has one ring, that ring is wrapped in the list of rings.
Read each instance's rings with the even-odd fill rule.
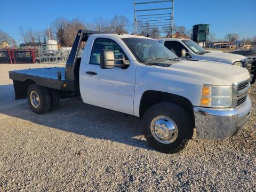
[[[121,61],[122,64],[115,65],[115,61]],[[126,69],[129,67],[130,61],[125,60],[124,58],[115,59],[114,52],[111,50],[101,50],[100,53],[100,68],[101,69],[112,69],[114,67],[122,67],[122,69]]]

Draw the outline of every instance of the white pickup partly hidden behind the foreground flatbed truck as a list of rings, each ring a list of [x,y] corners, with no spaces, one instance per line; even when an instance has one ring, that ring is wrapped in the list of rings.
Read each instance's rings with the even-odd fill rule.
[[[239,67],[246,67],[248,62],[248,59],[243,55],[212,50],[206,51],[191,39],[163,38],[157,39],[157,41],[162,43],[179,57],[227,63]],[[182,53],[182,50],[185,51]]]

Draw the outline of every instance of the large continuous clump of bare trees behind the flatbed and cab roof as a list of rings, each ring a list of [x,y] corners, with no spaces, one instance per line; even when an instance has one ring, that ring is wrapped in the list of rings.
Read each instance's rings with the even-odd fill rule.
[[[85,23],[76,18],[55,19],[51,25],[40,31],[33,31],[30,28],[24,30],[19,28],[23,42],[35,46],[37,43],[46,43],[47,39],[55,39],[61,46],[72,46],[78,29],[105,31],[107,33],[128,33],[129,20],[122,15],[116,15],[112,19],[95,18],[92,23]]]

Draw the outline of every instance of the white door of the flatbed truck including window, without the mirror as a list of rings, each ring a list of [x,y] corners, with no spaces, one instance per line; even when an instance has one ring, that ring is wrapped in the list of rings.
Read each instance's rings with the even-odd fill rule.
[[[126,69],[115,67],[100,68],[100,52],[103,49],[114,51],[115,58],[128,59],[121,46],[108,38],[96,38],[90,61],[81,63],[80,90],[83,101],[91,105],[133,114],[135,86],[135,63],[130,60]],[[121,61],[115,61],[120,64]]]

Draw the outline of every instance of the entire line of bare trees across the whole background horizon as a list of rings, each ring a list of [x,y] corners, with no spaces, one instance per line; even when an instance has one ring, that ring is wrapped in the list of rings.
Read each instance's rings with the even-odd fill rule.
[[[66,18],[55,19],[50,26],[43,30],[33,30],[31,27],[24,29],[19,27],[18,31],[21,39],[26,46],[37,46],[37,44],[45,44],[47,39],[55,39],[61,46],[72,46],[74,38],[78,29],[102,31],[106,33],[134,33],[133,23],[122,15],[115,15],[111,19],[102,17],[94,18],[93,22],[84,22],[83,20],[76,18],[68,20]],[[161,33],[157,27],[147,29],[147,26],[140,26],[140,33],[142,35],[149,35],[152,38],[160,38]],[[185,38],[191,38],[193,30],[187,29],[185,26],[174,25],[174,33],[179,33],[179,36]],[[165,31],[166,37],[170,37],[170,30]],[[227,34],[224,39],[219,41],[228,41],[234,43],[239,39],[238,34]],[[216,41],[215,34],[210,33],[207,42]],[[256,36],[252,38],[242,39],[245,44],[256,44]],[[8,33],[0,29],[0,43],[6,42],[10,47],[15,46],[15,39]]]

